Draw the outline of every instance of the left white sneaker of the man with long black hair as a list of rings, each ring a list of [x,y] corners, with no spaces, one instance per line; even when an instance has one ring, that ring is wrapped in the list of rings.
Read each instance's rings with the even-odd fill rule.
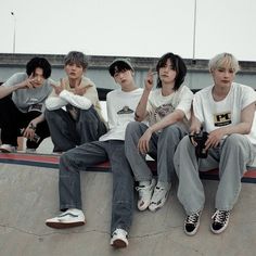
[[[148,185],[141,183],[143,182],[140,182],[139,187],[136,188],[137,191],[139,191],[138,209],[144,210],[150,205],[151,196],[155,188],[155,179],[152,179],[151,183]]]

